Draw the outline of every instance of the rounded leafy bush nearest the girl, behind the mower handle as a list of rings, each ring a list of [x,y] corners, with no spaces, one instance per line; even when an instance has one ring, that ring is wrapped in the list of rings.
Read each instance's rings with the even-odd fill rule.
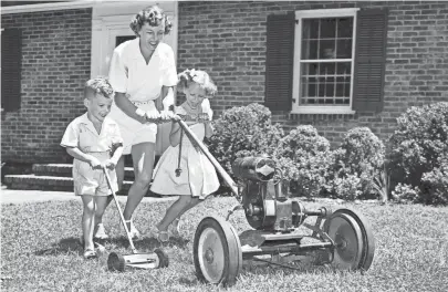
[[[280,125],[271,124],[271,112],[260,104],[232,107],[213,122],[215,135],[208,139],[210,153],[232,175],[231,164],[242,156],[272,156],[283,137]]]

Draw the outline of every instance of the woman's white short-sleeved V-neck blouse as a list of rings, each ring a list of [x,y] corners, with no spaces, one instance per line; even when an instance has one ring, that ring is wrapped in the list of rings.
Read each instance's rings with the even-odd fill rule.
[[[177,85],[173,49],[160,42],[146,64],[139,38],[124,42],[114,50],[108,79],[115,92],[125,93],[132,102],[154,101],[162,86]]]

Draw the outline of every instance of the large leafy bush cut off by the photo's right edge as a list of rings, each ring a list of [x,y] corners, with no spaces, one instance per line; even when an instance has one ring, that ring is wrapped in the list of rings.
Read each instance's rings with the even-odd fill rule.
[[[394,182],[418,187],[419,201],[448,204],[447,174],[444,160],[448,154],[448,103],[413,106],[398,117],[390,137]]]

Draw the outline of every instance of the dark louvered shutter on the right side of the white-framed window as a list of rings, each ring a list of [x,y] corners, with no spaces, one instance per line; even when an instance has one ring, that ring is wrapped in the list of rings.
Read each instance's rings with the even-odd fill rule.
[[[353,109],[383,109],[384,72],[387,44],[387,10],[357,12]]]

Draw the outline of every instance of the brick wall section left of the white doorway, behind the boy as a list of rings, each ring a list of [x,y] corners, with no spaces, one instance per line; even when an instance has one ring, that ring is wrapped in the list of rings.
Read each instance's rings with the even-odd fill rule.
[[[85,111],[92,9],[3,14],[1,27],[20,28],[23,38],[22,104],[2,115],[2,159],[71,161],[59,144],[67,124]]]

